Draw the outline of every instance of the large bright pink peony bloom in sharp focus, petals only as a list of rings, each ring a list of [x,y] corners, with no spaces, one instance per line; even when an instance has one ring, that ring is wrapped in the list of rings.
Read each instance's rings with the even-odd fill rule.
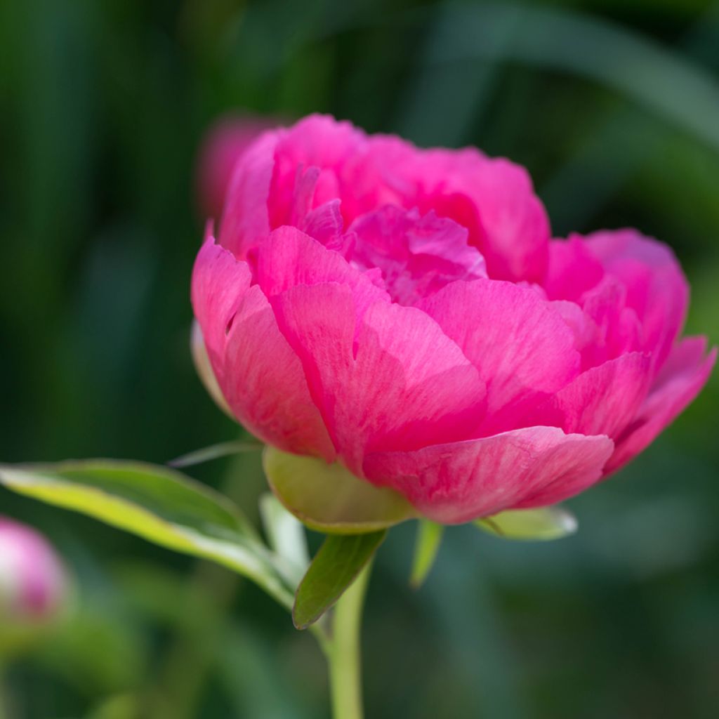
[[[311,116],[234,170],[192,301],[234,416],[435,521],[556,503],[641,452],[715,352],[633,229],[550,239],[523,168]]]

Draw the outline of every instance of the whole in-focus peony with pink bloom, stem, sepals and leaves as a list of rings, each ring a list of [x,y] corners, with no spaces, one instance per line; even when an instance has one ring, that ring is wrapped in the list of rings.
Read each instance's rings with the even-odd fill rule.
[[[557,503],[645,449],[716,351],[682,336],[689,290],[669,247],[633,229],[552,239],[513,162],[327,116],[252,137],[211,145],[225,199],[193,270],[192,344],[211,396],[261,444],[182,464],[264,446],[266,539],[173,469],[92,460],[0,479],[257,582],[318,638],[334,716],[358,719],[359,617],[388,528],[418,521],[415,585],[446,525],[573,531]],[[303,525],[326,534],[311,562]]]

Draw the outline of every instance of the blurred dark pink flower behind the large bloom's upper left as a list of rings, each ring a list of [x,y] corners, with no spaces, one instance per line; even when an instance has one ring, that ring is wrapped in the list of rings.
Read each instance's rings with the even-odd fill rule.
[[[198,153],[197,197],[206,217],[219,218],[234,165],[261,132],[278,123],[266,117],[234,114],[219,119]]]

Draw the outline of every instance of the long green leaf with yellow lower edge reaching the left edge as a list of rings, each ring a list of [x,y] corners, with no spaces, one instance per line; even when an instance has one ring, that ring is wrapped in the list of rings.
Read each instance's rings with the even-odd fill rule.
[[[275,557],[239,510],[167,467],[114,459],[0,465],[0,484],[168,549],[210,559],[257,582],[280,604],[292,605]]]

